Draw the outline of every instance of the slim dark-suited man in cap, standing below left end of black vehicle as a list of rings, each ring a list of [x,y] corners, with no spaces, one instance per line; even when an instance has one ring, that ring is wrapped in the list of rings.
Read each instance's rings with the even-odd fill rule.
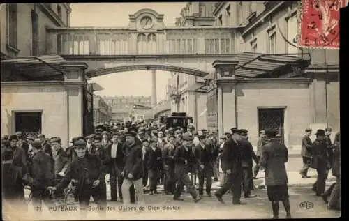
[[[168,135],[168,143],[163,146],[163,171],[165,172],[164,190],[165,194],[172,195],[175,188],[174,177],[174,143],[176,136],[174,134]]]

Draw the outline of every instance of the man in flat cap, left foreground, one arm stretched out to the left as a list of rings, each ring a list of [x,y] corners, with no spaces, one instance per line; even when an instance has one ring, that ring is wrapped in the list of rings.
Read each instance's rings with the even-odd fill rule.
[[[91,196],[97,205],[102,207],[98,213],[105,218],[107,199],[105,195],[105,171],[101,160],[94,155],[87,154],[86,142],[78,139],[74,143],[77,157],[69,164],[66,176],[54,187],[47,189],[61,192],[70,181],[77,181],[77,197],[79,198],[82,218],[86,218],[87,208]]]

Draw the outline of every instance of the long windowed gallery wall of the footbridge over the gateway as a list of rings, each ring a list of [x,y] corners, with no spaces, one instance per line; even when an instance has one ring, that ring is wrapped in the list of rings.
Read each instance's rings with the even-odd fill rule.
[[[52,54],[234,54],[231,29],[170,29],[163,33],[131,33],[127,30],[48,29]],[[219,32],[221,31],[221,32]]]

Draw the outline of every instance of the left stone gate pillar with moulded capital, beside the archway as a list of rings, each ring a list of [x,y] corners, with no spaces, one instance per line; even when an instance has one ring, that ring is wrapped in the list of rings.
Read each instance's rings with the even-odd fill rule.
[[[84,70],[87,69],[87,64],[83,62],[64,62],[61,64],[64,68],[64,83],[66,85],[66,119],[68,128],[68,142],[73,137],[83,135],[83,88],[85,84]]]

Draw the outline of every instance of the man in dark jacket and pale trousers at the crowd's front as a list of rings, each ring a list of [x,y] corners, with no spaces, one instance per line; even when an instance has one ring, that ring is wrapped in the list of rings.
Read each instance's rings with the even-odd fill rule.
[[[136,199],[140,204],[144,203],[142,185],[142,148],[137,142],[137,133],[133,130],[126,132],[126,157],[122,176],[124,182],[121,186],[124,204],[131,204],[130,188],[134,185]]]

